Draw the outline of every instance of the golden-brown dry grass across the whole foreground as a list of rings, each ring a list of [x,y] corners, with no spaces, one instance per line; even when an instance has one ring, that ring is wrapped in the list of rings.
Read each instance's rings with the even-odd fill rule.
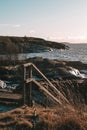
[[[78,107],[79,108],[79,107]],[[39,120],[34,125],[34,109],[21,107],[0,114],[0,129],[16,127],[17,129],[35,130],[87,130],[87,109],[72,106],[56,108],[37,108]]]

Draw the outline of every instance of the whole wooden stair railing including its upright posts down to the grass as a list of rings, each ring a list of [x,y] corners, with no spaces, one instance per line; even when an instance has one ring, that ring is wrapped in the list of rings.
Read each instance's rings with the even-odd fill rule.
[[[28,72],[29,77],[26,78],[28,67],[30,68],[29,72]],[[54,95],[49,91],[48,88],[44,87],[38,81],[35,81],[35,79],[33,79],[33,74],[32,74],[33,69],[40,76],[42,76],[43,79],[49,84],[49,87],[53,90]],[[68,100],[63,96],[63,94],[51,83],[51,81],[33,63],[23,64],[23,103],[24,104],[27,104],[30,106],[32,104],[31,103],[32,102],[32,87],[33,87],[32,83],[36,84],[40,89],[42,89],[42,91],[44,93],[46,93],[57,104],[62,105],[62,100],[69,104]],[[29,88],[26,88],[26,84],[29,84]],[[28,90],[26,90],[26,89],[28,89]],[[26,91],[27,91],[27,93],[26,93]],[[57,95],[57,97],[55,95]],[[59,99],[58,99],[58,97],[59,97]],[[28,99],[28,102],[26,102],[27,99]],[[60,100],[60,99],[62,99],[62,100]]]

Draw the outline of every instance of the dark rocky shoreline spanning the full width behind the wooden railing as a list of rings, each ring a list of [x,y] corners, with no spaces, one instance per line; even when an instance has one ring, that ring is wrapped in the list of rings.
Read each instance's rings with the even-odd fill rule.
[[[4,73],[11,74],[14,77],[15,71],[19,69],[24,63],[31,62],[35,64],[42,73],[49,79],[86,79],[87,78],[87,64],[82,63],[80,61],[62,61],[56,59],[47,59],[42,57],[34,57],[29,58],[24,61],[17,61],[14,66],[13,63],[10,63],[8,66],[2,64],[0,66],[0,78],[5,76]],[[21,68],[21,67],[20,67]],[[21,69],[18,70],[15,76],[19,76],[19,72]],[[20,72],[21,73],[21,72]]]

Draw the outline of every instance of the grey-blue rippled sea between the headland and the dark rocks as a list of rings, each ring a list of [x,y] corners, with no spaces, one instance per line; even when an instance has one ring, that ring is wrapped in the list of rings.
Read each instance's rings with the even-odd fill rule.
[[[51,51],[19,54],[19,59],[43,57],[49,59],[81,61],[87,63],[87,44],[68,44],[69,49],[51,49]]]

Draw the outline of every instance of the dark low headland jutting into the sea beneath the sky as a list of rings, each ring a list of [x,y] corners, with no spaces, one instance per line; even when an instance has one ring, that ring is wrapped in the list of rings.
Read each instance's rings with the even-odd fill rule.
[[[0,54],[31,53],[50,51],[51,49],[68,49],[64,43],[47,41],[34,37],[0,36]]]

